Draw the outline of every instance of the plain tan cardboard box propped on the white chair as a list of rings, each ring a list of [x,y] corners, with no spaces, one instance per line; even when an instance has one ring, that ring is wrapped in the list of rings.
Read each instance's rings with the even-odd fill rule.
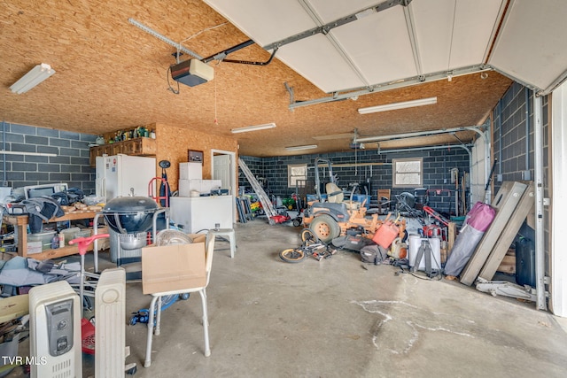
[[[198,288],[206,284],[205,243],[142,248],[142,291]]]

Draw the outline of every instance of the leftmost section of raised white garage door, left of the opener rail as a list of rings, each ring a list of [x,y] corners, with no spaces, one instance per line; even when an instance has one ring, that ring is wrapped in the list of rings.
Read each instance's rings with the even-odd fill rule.
[[[317,27],[297,0],[205,0],[260,46]]]

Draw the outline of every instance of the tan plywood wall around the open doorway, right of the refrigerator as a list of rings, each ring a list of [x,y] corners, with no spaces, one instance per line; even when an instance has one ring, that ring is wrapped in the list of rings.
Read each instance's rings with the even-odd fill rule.
[[[156,161],[169,160],[167,181],[172,191],[178,189],[179,163],[186,163],[188,150],[203,151],[203,179],[211,180],[211,150],[225,150],[237,153],[237,141],[229,136],[209,135],[191,130],[190,126],[177,127],[156,124]],[[157,172],[158,177],[161,172]]]

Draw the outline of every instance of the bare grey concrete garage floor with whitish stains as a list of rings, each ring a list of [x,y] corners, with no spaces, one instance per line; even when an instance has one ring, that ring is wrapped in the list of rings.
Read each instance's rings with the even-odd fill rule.
[[[254,220],[236,230],[235,258],[224,242],[214,253],[207,289],[211,356],[203,354],[194,294],[163,312],[149,368],[147,328],[127,326],[135,376],[565,376],[567,319],[531,303],[400,274],[389,265],[362,266],[349,251],[289,264],[278,253],[299,246],[300,228]],[[150,299],[140,283],[128,283],[128,320]],[[84,376],[94,376],[93,358],[83,361]]]

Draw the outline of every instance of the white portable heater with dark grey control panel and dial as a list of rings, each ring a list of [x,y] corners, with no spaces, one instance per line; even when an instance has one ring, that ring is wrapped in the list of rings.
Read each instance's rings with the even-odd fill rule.
[[[82,377],[81,304],[68,282],[29,290],[32,378]]]

